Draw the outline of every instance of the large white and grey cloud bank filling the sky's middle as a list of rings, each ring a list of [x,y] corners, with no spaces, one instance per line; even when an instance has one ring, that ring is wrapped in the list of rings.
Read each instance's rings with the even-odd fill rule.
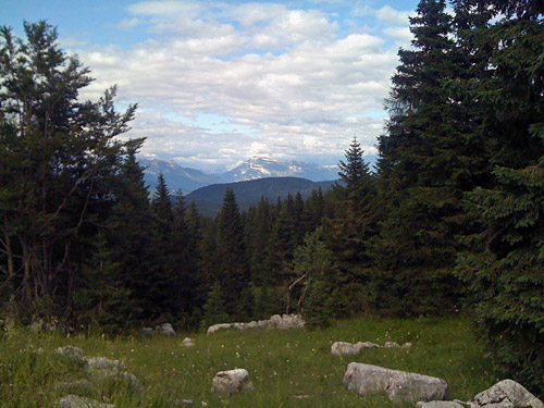
[[[332,160],[354,136],[375,151],[383,119],[367,112],[383,107],[396,48],[371,34],[341,36],[321,11],[201,4],[137,3],[125,26],[147,24],[160,36],[128,50],[77,50],[97,78],[83,97],[118,84],[120,100],[140,106],[131,135],[147,137],[144,153],[202,165],[252,156]],[[384,9],[382,18],[398,17]],[[213,115],[225,119],[215,128],[206,121]]]

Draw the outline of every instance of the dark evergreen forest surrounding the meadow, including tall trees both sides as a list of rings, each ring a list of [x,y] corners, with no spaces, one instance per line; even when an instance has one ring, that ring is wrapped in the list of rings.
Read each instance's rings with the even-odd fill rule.
[[[448,5],[448,10],[446,10]],[[449,5],[452,10],[449,10]],[[357,139],[341,185],[203,218],[152,199],[120,141],[136,107],[77,99],[89,70],[26,24],[0,42],[2,314],[119,332],[301,312],[465,309],[497,363],[544,387],[544,7],[422,0],[399,51],[376,171]]]

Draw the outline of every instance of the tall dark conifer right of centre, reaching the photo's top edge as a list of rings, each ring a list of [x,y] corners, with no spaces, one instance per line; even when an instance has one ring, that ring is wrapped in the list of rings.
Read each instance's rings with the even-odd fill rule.
[[[445,91],[462,67],[445,9],[444,0],[422,0],[410,18],[415,49],[399,51],[387,133],[379,139],[372,292],[375,307],[390,313],[447,311],[459,301],[455,236],[465,227],[462,193],[474,186],[484,148],[465,137],[470,111]]]

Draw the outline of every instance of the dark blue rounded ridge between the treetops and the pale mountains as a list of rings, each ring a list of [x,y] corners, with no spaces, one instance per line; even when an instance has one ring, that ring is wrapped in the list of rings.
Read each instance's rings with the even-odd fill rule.
[[[312,182],[300,177],[267,177],[248,182],[213,184],[199,188],[186,197],[187,202],[195,201],[202,215],[215,215],[223,205],[225,191],[231,187],[242,211],[259,202],[261,197],[271,202],[277,198],[286,198],[288,194],[295,196],[300,191],[302,198],[308,198],[314,189],[323,191],[331,188],[334,181]]]

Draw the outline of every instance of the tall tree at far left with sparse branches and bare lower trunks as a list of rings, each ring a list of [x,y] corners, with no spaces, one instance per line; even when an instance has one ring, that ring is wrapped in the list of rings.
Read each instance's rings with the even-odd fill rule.
[[[0,29],[0,265],[14,312],[70,313],[85,240],[112,205],[123,149],[115,136],[136,107],[116,113],[115,88],[79,102],[89,70],[66,57],[46,22],[24,28],[25,40]]]

